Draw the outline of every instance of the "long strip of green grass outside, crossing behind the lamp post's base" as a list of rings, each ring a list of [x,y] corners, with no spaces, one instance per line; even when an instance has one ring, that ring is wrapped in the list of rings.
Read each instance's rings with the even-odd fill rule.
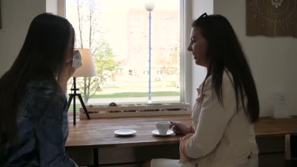
[[[178,91],[162,91],[151,92],[151,96],[179,96]],[[147,97],[148,92],[123,92],[123,93],[109,93],[109,94],[95,94],[91,98],[127,98],[127,97]]]

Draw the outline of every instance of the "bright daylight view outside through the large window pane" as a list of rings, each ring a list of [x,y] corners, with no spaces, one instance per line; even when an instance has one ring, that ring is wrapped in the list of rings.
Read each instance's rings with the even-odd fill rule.
[[[76,78],[86,105],[148,103],[149,57],[151,103],[180,102],[180,0],[155,0],[150,19],[144,0],[66,0],[66,18],[95,64]]]

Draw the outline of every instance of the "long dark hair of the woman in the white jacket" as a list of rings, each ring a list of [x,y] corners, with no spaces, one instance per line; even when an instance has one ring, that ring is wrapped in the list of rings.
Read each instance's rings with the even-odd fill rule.
[[[208,42],[206,57],[209,67],[203,85],[206,79],[212,76],[212,88],[219,102],[223,104],[223,73],[225,69],[230,71],[233,77],[236,108],[238,110],[239,101],[241,101],[240,103],[242,103],[250,122],[255,123],[259,117],[259,100],[255,81],[230,22],[221,15],[208,16],[204,13],[196,21],[193,21],[192,27],[199,27],[202,36]],[[247,97],[246,105],[244,95]]]

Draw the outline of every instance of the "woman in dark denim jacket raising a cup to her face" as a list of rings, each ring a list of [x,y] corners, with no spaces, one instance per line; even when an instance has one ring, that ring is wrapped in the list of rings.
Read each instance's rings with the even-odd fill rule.
[[[17,59],[0,78],[1,167],[77,166],[64,148],[74,34],[62,17],[37,16]]]

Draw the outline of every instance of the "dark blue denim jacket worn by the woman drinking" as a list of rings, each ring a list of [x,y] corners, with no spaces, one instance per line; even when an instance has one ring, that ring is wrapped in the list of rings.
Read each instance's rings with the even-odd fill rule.
[[[17,145],[5,146],[4,167],[77,167],[65,154],[67,99],[54,84],[35,80],[25,86],[17,111]]]

